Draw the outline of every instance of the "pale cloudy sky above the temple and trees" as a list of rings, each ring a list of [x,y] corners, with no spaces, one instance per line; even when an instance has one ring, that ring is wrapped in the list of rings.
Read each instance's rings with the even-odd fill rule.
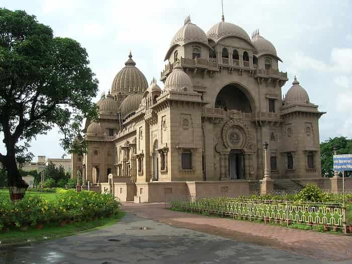
[[[173,35],[187,16],[207,32],[221,21],[221,0],[2,0],[0,7],[25,10],[55,36],[78,41],[88,52],[99,79],[99,95],[108,92],[129,50],[148,83],[160,77]],[[352,137],[352,1],[349,0],[224,0],[225,21],[255,29],[277,49],[281,71],[294,75],[310,101],[327,112],[319,121],[320,140]],[[162,87],[162,83],[158,83]],[[0,135],[0,137],[3,137]],[[31,142],[35,155],[61,157],[57,129]],[[0,138],[1,139],[1,138]],[[0,140],[0,153],[6,153]]]

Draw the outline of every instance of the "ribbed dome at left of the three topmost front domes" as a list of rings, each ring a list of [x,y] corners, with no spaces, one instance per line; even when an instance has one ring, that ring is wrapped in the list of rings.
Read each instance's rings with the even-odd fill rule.
[[[205,32],[195,24],[191,23],[191,19],[185,21],[185,25],[173,36],[170,46],[179,44],[185,45],[189,42],[202,42],[208,45],[208,38]]]

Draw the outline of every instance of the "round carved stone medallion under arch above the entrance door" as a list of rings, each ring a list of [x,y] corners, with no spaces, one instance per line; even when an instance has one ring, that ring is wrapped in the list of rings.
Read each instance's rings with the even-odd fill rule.
[[[222,128],[222,141],[228,149],[251,149],[251,136],[242,120],[231,119]]]

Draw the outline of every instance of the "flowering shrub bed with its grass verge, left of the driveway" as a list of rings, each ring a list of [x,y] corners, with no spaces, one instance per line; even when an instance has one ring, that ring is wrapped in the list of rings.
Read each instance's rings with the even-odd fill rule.
[[[28,236],[46,239],[62,236],[60,233],[73,234],[111,221],[115,223],[121,216],[121,204],[112,195],[88,191],[67,191],[53,201],[47,201],[40,195],[17,202],[0,199],[0,241],[4,244],[6,240],[10,243],[26,241]],[[42,229],[43,232],[38,231]],[[14,239],[9,240],[11,237]]]

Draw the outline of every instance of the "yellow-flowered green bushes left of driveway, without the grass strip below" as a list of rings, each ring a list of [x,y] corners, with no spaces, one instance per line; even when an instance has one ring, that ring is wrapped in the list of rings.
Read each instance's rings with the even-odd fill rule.
[[[0,229],[107,217],[118,213],[120,205],[112,195],[72,190],[60,193],[54,201],[40,195],[26,196],[14,203],[0,198]]]

